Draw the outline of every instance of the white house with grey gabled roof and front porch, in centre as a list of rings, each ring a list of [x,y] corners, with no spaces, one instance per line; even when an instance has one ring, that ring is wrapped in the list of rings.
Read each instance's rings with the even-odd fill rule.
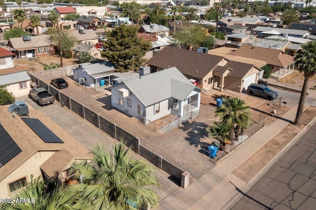
[[[111,89],[112,106],[144,124],[169,114],[183,117],[199,111],[201,89],[175,67],[127,79]]]

